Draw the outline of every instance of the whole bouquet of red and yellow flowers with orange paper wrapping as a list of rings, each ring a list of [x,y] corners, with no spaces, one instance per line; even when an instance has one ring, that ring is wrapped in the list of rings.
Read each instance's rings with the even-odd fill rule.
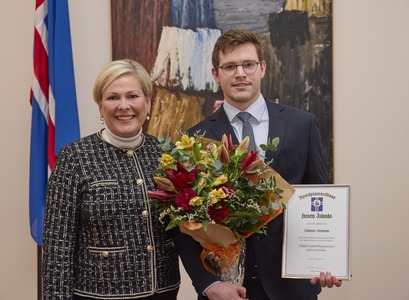
[[[158,187],[149,197],[170,217],[167,229],[180,226],[200,242],[202,261],[223,281],[242,283],[245,238],[263,233],[266,224],[285,208],[294,189],[249,151],[249,138],[234,146],[184,134],[171,144],[159,138],[162,156],[154,172]],[[278,139],[262,149],[276,150]]]

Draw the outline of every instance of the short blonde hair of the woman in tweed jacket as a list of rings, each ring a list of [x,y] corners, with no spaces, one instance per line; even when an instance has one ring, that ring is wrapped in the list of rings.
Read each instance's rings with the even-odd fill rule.
[[[134,74],[136,76],[141,83],[145,96],[152,93],[152,81],[146,69],[132,59],[121,59],[110,62],[98,74],[93,88],[94,101],[99,104],[105,89],[124,74]]]

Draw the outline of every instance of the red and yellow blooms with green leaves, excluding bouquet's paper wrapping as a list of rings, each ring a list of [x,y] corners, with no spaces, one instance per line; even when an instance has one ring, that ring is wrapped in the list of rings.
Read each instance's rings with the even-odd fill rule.
[[[224,144],[205,143],[200,136],[183,135],[173,146],[170,139],[158,140],[163,154],[153,174],[159,188],[165,181],[166,194],[163,198],[163,194],[150,192],[150,198],[155,199],[162,218],[170,217],[167,229],[199,222],[206,231],[208,224],[216,223],[242,238],[264,232],[265,217],[275,217],[281,208],[283,191],[274,177],[262,178],[257,152],[246,150],[248,141],[232,146],[226,139]],[[260,147],[276,151],[278,144],[279,139],[274,138]],[[172,185],[174,189],[169,189]]]

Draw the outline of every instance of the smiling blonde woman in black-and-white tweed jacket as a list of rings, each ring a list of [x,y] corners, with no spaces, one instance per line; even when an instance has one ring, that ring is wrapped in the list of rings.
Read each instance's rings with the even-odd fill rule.
[[[106,128],[65,147],[47,187],[44,299],[176,299],[178,257],[147,198],[160,155],[142,133],[149,74],[113,61],[93,94]]]

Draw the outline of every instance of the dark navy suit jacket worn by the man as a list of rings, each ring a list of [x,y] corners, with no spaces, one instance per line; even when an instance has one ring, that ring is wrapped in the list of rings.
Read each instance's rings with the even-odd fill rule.
[[[321,136],[313,114],[285,105],[267,101],[270,139],[280,138],[278,151],[266,153],[266,161],[291,184],[326,183]],[[189,129],[189,134],[199,132],[207,138],[221,140],[223,134],[231,134],[233,143],[239,141],[227,118],[224,108]],[[218,278],[206,272],[199,259],[201,246],[184,234],[176,234],[176,245],[182,262],[189,273],[198,294]],[[244,286],[249,286],[258,265],[260,280],[270,299],[311,300],[321,291],[319,284],[309,280],[281,278],[283,240],[282,215],[267,225],[267,235],[253,234],[246,240],[246,271]],[[183,245],[183,246],[182,246]],[[247,295],[250,299],[250,295]]]

